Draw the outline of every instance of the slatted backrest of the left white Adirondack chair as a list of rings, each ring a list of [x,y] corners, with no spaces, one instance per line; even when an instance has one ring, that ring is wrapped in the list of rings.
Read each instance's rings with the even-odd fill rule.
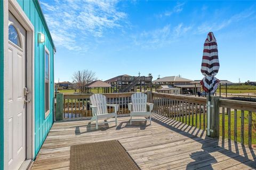
[[[92,106],[97,106],[98,115],[108,113],[106,96],[101,94],[94,94],[90,96],[90,102]]]

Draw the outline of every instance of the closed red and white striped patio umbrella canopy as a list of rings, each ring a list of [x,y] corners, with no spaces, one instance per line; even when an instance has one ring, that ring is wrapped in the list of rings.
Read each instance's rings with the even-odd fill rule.
[[[218,57],[218,46],[213,32],[209,32],[204,43],[203,60],[201,65],[201,73],[205,75],[200,82],[206,92],[215,92],[217,90],[219,80],[214,77],[219,71],[220,63]]]

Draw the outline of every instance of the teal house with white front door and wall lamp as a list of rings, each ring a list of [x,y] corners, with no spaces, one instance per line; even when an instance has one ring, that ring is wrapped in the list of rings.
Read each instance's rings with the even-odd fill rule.
[[[0,169],[26,168],[54,120],[55,47],[38,0],[0,1]]]

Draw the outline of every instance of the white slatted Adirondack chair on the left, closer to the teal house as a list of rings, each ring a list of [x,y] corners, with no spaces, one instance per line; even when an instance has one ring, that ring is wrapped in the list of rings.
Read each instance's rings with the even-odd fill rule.
[[[115,118],[115,121],[107,121],[107,123],[116,122],[117,126],[117,111],[119,105],[107,104],[106,96],[103,96],[101,94],[94,94],[90,96],[90,102],[90,107],[92,108],[92,118],[90,122],[96,122],[96,129],[98,129],[98,120],[107,121],[113,117]],[[114,113],[108,113],[107,106],[114,107]]]

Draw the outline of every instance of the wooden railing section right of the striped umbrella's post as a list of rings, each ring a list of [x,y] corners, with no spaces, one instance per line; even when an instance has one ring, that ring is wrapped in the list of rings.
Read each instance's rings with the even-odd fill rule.
[[[256,145],[256,103],[221,98],[219,107],[222,138]]]

